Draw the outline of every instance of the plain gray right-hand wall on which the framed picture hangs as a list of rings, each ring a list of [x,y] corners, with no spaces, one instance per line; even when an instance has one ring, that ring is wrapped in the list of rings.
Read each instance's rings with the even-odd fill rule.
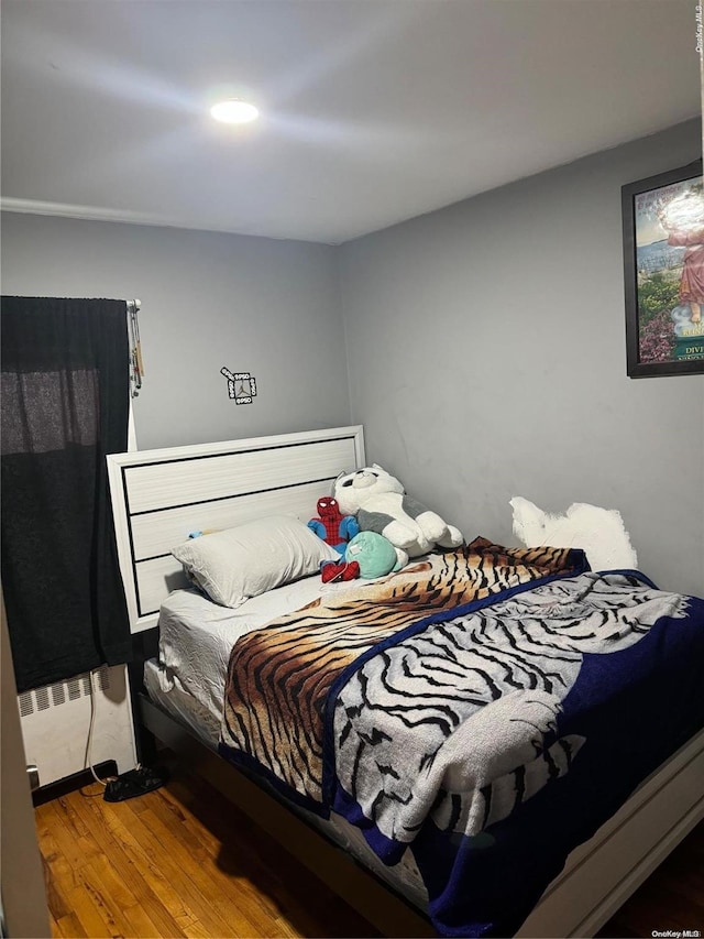
[[[688,122],[340,249],[367,456],[465,536],[516,544],[512,495],[616,507],[644,571],[704,592],[704,378],[626,378],[620,211],[701,140]]]

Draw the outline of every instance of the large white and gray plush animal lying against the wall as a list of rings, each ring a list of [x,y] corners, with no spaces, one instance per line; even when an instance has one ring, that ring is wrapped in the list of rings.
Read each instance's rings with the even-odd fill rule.
[[[344,515],[356,516],[362,532],[384,535],[409,557],[464,542],[459,528],[406,495],[402,483],[377,463],[338,477],[334,498]]]

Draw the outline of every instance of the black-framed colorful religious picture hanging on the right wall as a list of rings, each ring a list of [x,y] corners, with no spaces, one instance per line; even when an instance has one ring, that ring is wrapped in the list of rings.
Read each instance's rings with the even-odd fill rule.
[[[704,374],[702,161],[622,188],[630,378]]]

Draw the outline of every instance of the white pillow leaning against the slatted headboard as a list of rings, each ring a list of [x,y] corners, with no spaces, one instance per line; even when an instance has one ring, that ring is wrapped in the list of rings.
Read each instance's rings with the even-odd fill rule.
[[[274,587],[317,574],[340,555],[298,518],[273,515],[189,538],[172,549],[216,603],[240,607]]]

